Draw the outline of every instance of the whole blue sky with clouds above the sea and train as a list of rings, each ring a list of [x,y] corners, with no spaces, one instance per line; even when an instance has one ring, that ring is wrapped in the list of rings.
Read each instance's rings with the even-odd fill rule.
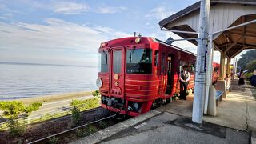
[[[194,2],[0,0],[0,61],[95,66],[101,42],[134,31],[162,40],[179,38],[161,31],[158,22]],[[196,52],[190,42],[174,45]]]

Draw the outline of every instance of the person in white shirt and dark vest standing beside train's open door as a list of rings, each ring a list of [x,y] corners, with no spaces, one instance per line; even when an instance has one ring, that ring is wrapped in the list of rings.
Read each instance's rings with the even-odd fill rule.
[[[190,72],[187,71],[188,66],[182,66],[182,71],[179,74],[180,82],[180,99],[186,100],[186,90],[190,81]]]

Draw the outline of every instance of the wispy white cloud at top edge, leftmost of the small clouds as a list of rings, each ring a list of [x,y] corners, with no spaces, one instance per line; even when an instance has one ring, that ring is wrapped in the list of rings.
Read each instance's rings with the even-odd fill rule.
[[[84,14],[90,10],[90,6],[77,2],[58,2],[54,4],[53,10],[61,14]]]

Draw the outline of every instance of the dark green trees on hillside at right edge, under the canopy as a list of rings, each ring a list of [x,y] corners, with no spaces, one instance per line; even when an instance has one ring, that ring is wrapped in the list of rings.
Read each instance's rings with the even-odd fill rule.
[[[246,64],[256,59],[255,55],[256,55],[256,50],[250,50],[250,51],[247,51],[245,54],[242,54],[241,55],[242,58],[238,60],[238,66],[240,66],[243,70],[245,70]]]

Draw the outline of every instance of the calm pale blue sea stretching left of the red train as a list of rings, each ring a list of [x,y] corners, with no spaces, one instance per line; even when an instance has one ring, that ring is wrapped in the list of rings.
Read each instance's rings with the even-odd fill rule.
[[[97,89],[98,67],[0,64],[0,100]]]

